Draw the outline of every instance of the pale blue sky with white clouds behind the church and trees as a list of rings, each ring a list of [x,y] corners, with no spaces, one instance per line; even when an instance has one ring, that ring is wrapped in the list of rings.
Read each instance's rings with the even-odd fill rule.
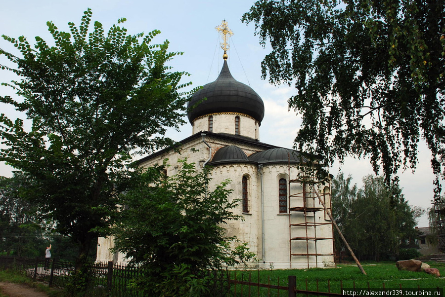
[[[214,81],[223,65],[223,51],[219,46],[220,35],[215,27],[225,19],[234,33],[230,38],[227,60],[233,77],[250,85],[263,99],[266,114],[260,127],[260,141],[280,147],[292,148],[295,136],[301,125],[301,116],[288,111],[287,99],[295,90],[288,86],[274,86],[261,79],[261,61],[267,55],[259,37],[255,36],[254,24],[240,21],[242,15],[253,5],[253,0],[16,0],[3,1],[0,12],[0,35],[9,37],[25,36],[31,44],[39,36],[51,40],[46,22],[52,21],[60,31],[69,32],[68,22],[80,24],[83,12],[91,8],[92,21],[102,23],[104,29],[125,17],[123,24],[129,34],[148,33],[160,30],[161,34],[153,42],[169,40],[172,52],[183,52],[171,61],[175,71],[186,71],[193,87]],[[14,53],[14,48],[0,39],[0,48]],[[17,52],[15,52],[17,53]],[[0,64],[5,63],[0,58]],[[10,82],[14,77],[0,70],[0,82]],[[0,86],[1,95],[13,92]],[[11,108],[0,105],[0,113],[9,117],[22,117]],[[168,137],[179,141],[191,135],[188,123],[180,131],[169,131]],[[400,172],[400,186],[410,205],[424,209],[431,207],[433,199],[433,174],[431,154],[424,144],[419,146],[418,164],[415,172]],[[10,177],[13,169],[0,163],[0,176]],[[361,186],[364,176],[373,174],[367,159],[348,157],[343,164],[338,162],[330,168],[334,176],[342,171],[351,175],[353,183]],[[420,218],[420,227],[428,226],[427,216]]]

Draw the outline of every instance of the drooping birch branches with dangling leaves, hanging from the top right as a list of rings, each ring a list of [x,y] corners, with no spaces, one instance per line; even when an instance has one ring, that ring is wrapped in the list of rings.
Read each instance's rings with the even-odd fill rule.
[[[439,199],[444,11],[443,1],[258,0],[242,20],[270,43],[263,78],[295,84],[289,108],[303,116],[296,146],[328,162],[368,156],[389,185],[399,168],[415,168],[423,139]]]

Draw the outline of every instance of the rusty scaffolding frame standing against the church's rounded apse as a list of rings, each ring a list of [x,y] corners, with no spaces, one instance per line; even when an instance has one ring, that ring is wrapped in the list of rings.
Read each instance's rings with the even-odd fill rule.
[[[318,253],[318,242],[331,240],[332,248],[334,247],[334,229],[332,221],[326,220],[326,213],[323,205],[318,202],[318,193],[315,192],[316,184],[318,184],[315,177],[304,177],[301,179],[291,179],[291,168],[298,166],[288,165],[289,181],[288,181],[288,202],[289,202],[289,260],[290,268],[292,268],[292,259],[298,256],[305,256],[307,260],[307,266],[310,268],[310,260],[315,260],[315,267],[318,267],[318,257],[334,256],[334,253]],[[293,184],[300,184],[302,190],[292,193]],[[330,183],[328,185],[329,191],[323,192],[323,199],[326,198],[330,201]],[[327,196],[327,197],[326,197]],[[329,208],[331,207],[329,203]],[[316,213],[323,212],[324,220],[317,222]],[[304,222],[298,223],[298,214],[303,214]],[[324,225],[331,225],[332,235],[330,237],[321,237],[320,227]],[[293,233],[300,234],[298,236]],[[305,235],[305,236],[303,236]],[[306,253],[298,253],[293,251],[293,242],[306,242]],[[310,244],[310,243],[313,244]],[[310,247],[311,245],[311,247]],[[303,246],[304,248],[304,246]],[[299,247],[301,249],[301,247]]]

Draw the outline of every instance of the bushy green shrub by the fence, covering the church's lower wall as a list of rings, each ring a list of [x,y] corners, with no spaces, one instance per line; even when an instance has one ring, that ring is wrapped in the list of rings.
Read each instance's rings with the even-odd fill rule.
[[[224,225],[242,217],[231,210],[229,181],[208,190],[209,170],[180,161],[178,174],[166,178],[162,168],[147,168],[123,195],[125,208],[116,225],[116,248],[137,265],[136,285],[147,296],[206,296],[208,269],[234,265],[254,256]]]

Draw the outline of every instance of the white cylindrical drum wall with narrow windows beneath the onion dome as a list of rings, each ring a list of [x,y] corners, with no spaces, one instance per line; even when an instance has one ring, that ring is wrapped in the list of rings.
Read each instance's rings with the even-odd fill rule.
[[[240,117],[239,123],[239,135],[247,136],[252,139],[259,139],[259,123],[251,116],[235,113],[235,112],[221,112],[212,113],[213,116],[213,128],[214,133],[227,133],[235,135],[235,116]],[[196,118],[193,123],[192,134],[200,131],[209,131],[209,115]]]

